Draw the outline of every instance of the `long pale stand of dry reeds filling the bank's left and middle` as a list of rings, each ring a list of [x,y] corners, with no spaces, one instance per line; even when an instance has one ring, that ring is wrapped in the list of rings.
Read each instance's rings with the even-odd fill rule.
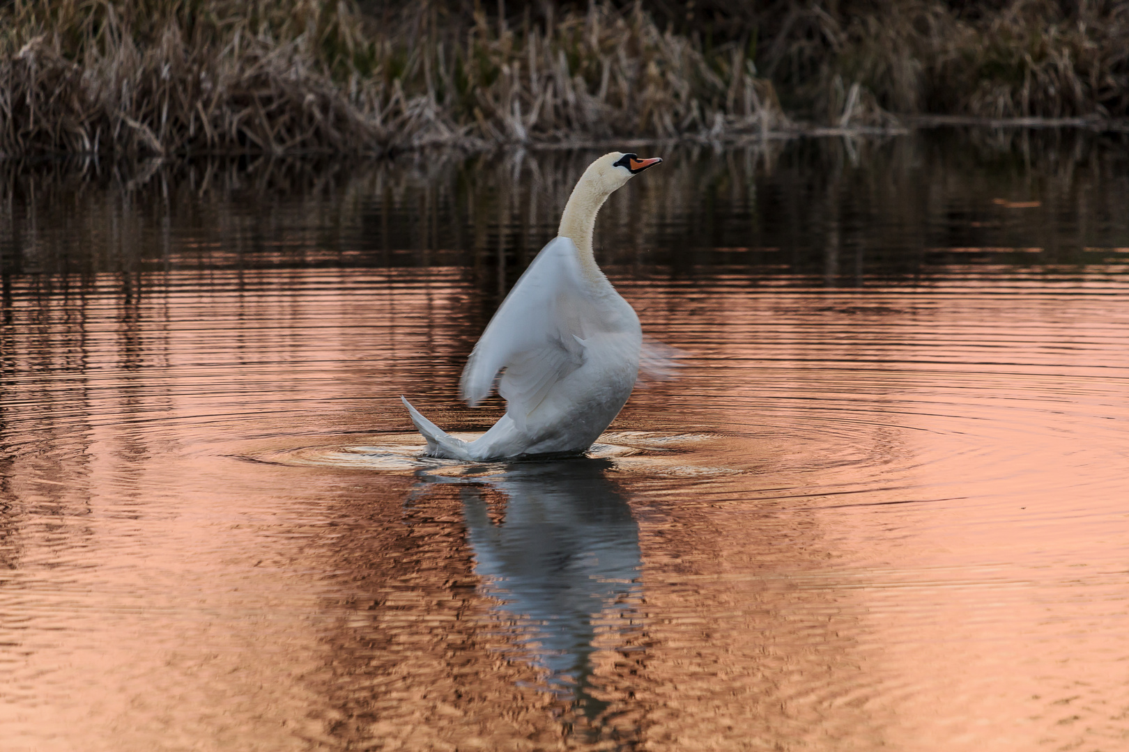
[[[421,8],[382,30],[349,2],[17,1],[0,10],[0,151],[348,153],[786,122],[744,50],[708,56],[638,8],[520,30]]]

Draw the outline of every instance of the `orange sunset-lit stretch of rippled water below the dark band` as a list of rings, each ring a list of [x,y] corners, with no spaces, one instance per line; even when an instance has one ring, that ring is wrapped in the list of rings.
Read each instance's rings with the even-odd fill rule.
[[[620,274],[691,356],[613,426],[650,444],[543,472],[287,461],[387,443],[401,392],[490,423],[453,399],[478,326],[457,268],[17,286],[3,738],[1118,749],[1126,277],[964,271]]]

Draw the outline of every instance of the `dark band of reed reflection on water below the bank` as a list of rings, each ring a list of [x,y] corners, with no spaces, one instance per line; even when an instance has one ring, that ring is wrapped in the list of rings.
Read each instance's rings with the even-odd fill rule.
[[[720,156],[672,147],[663,175],[601,210],[597,260],[636,278],[689,282],[708,269],[739,275],[734,284],[828,286],[918,283],[954,263],[973,273],[983,263],[1106,263],[1129,247],[1127,142],[1082,131],[938,130],[773,141]],[[91,275],[142,271],[445,266],[472,283],[463,311],[481,319],[480,331],[555,236],[592,157],[220,160],[133,176],[98,162],[76,170],[0,160],[0,273],[65,294]],[[72,207],[65,220],[61,206]]]

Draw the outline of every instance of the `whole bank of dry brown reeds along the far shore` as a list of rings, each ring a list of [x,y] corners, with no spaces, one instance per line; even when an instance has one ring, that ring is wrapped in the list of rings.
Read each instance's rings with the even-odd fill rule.
[[[1129,0],[714,0],[686,17],[627,0],[490,6],[9,0],[0,153],[373,153],[733,141],[928,113],[1129,115]]]

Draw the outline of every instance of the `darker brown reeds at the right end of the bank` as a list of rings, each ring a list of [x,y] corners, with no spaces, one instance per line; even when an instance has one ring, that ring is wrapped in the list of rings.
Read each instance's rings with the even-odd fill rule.
[[[1067,9],[1067,6],[1071,9]],[[843,82],[900,114],[988,118],[1129,116],[1129,1],[843,0],[794,8],[764,64],[816,116]],[[791,17],[790,16],[790,17]]]

